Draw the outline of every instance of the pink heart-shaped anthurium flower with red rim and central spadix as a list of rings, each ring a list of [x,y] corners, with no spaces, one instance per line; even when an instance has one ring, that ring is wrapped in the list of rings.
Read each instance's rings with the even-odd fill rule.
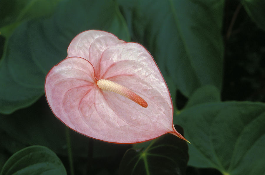
[[[174,128],[165,80],[142,45],[88,30],[72,40],[67,53],[47,74],[45,95],[69,128],[121,144],[166,133],[186,140]]]

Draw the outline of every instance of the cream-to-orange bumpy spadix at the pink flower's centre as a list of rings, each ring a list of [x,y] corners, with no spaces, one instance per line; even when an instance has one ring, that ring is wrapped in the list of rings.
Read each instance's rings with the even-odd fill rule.
[[[142,107],[147,107],[147,102],[140,97],[139,95],[135,94],[134,92],[132,92],[132,90],[126,88],[123,85],[120,85],[118,83],[115,83],[113,81],[110,80],[106,80],[106,79],[101,79],[97,81],[97,86],[100,89],[103,90],[108,90],[110,92],[114,92],[116,94],[120,94],[132,101],[134,101],[135,103],[141,105]]]

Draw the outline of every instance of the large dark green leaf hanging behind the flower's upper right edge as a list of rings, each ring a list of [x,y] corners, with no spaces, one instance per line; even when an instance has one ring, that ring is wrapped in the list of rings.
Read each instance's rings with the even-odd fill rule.
[[[224,0],[119,1],[133,41],[154,56],[162,74],[186,96],[222,86]]]

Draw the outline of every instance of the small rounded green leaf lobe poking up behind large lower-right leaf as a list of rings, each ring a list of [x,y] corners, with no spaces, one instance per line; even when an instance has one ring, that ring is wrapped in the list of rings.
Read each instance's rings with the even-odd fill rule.
[[[221,101],[220,91],[213,85],[204,85],[193,92],[185,107],[200,103]]]

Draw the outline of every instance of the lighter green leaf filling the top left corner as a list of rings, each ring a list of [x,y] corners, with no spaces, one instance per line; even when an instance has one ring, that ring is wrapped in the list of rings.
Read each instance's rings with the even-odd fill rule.
[[[1,0],[0,32],[8,38],[25,20],[51,15],[62,0]]]

